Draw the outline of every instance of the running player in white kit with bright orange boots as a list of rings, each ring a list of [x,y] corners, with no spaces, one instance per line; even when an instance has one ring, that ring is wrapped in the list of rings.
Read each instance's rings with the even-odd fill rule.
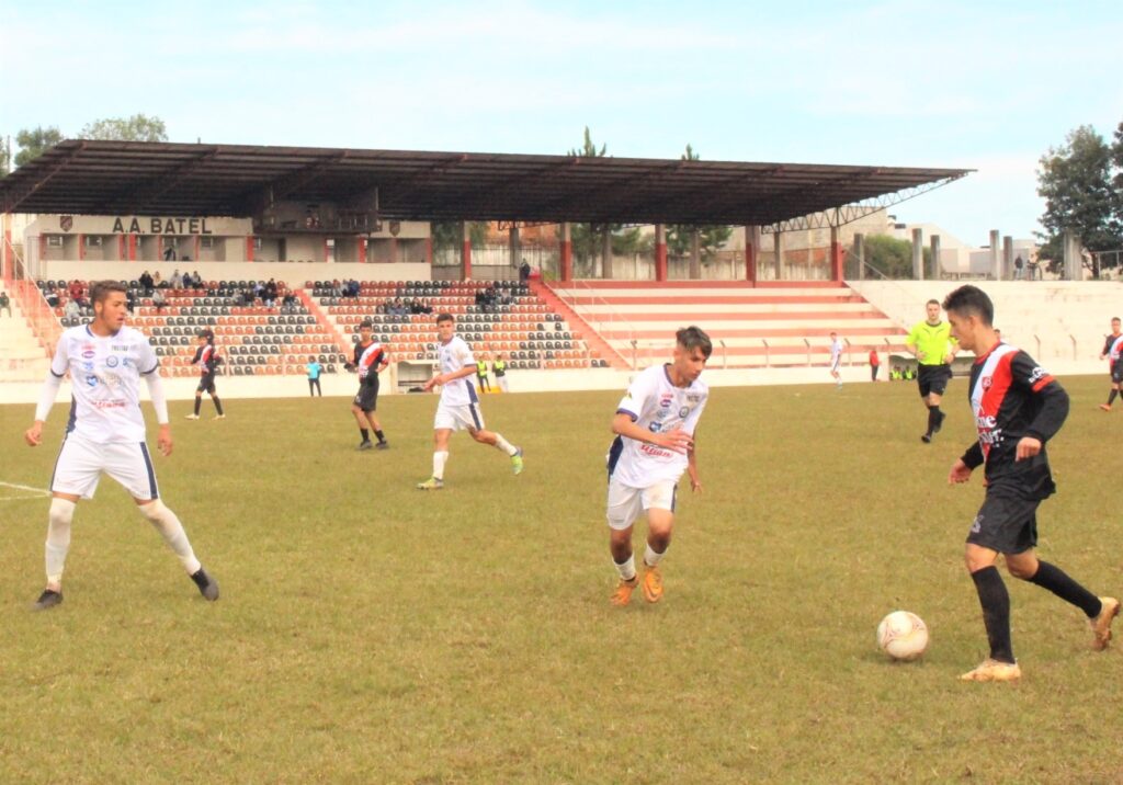
[[[701,493],[695,432],[710,390],[699,376],[713,353],[710,336],[697,327],[675,334],[673,362],[651,366],[632,380],[617,407],[609,449],[609,550],[620,573],[613,605],[627,605],[640,583],[632,554],[632,527],[647,513],[643,597],[663,599],[659,562],[670,545],[675,492],[685,471],[691,491]]]

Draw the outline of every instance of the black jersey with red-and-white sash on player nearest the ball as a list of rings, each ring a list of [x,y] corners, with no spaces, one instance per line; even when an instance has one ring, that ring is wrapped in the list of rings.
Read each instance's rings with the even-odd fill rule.
[[[1068,417],[1068,393],[1021,349],[997,344],[975,360],[968,389],[978,440],[964,454],[976,468],[986,463],[990,487],[1004,485],[1031,499],[1044,499],[1056,486],[1046,442]],[[1032,458],[1015,460],[1023,437],[1041,441]]]

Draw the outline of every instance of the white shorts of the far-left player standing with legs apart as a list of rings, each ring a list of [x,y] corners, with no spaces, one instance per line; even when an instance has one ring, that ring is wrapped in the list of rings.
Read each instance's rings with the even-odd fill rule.
[[[99,445],[80,436],[69,435],[58,450],[55,472],[51,477],[54,493],[67,493],[93,499],[98,481],[104,472],[125,486],[134,499],[158,499],[156,469],[143,441],[115,441]]]

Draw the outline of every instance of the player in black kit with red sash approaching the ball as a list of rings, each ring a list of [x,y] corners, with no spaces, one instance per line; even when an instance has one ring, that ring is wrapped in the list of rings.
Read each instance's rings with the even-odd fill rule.
[[[1011,682],[1022,675],[1010,640],[1010,594],[995,563],[1079,608],[1092,624],[1093,648],[1112,639],[1119,614],[1114,597],[1097,597],[1059,567],[1038,559],[1037,509],[1056,485],[1046,442],[1065,423],[1068,393],[1024,352],[995,335],[994,305],[976,286],[960,286],[943,301],[952,335],[975,352],[969,386],[978,440],[948,474],[949,483],[966,483],[986,465],[986,500],[967,535],[967,569],[983,605],[990,656],[962,676],[968,682]]]

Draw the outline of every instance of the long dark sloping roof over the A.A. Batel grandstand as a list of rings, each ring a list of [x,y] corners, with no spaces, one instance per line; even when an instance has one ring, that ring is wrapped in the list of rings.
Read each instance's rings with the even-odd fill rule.
[[[0,180],[0,211],[255,217],[322,201],[380,219],[779,226],[970,171],[67,139]]]

